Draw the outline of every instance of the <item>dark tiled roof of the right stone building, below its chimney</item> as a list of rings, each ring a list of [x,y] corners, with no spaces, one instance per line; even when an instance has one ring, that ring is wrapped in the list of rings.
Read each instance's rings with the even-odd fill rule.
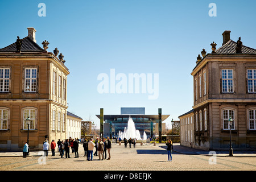
[[[236,53],[237,43],[229,40],[226,44],[216,50],[216,53]],[[256,54],[256,49],[242,46],[242,53]]]

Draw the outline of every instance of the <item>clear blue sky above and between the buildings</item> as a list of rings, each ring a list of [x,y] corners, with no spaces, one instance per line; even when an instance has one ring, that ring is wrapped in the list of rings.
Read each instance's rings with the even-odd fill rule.
[[[39,3],[46,5],[46,16],[38,15]],[[210,3],[217,16],[209,16]],[[120,107],[146,107],[146,114],[158,114],[162,108],[170,114],[169,126],[172,118],[192,109],[191,72],[203,48],[211,52],[212,42],[220,47],[225,30],[232,40],[241,36],[243,45],[256,48],[255,7],[254,0],[6,0],[0,1],[0,48],[34,27],[39,46],[47,40],[48,52],[57,47],[64,55],[70,71],[68,111],[100,126],[95,116],[100,108],[104,114],[120,114]],[[129,74],[151,73],[153,80],[157,74],[158,97],[149,100],[148,89],[99,93],[97,77],[105,73],[110,81],[110,69],[126,76],[127,83]]]

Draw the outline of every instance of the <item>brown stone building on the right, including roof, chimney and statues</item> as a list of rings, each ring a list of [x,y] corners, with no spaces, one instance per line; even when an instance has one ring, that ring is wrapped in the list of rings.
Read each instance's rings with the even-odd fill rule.
[[[256,148],[256,49],[223,34],[222,46],[197,57],[193,76],[194,147],[228,150],[231,117],[234,150]]]

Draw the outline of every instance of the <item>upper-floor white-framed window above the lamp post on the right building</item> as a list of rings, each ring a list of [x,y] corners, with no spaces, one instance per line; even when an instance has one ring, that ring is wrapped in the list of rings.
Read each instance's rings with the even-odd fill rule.
[[[230,93],[233,90],[233,69],[222,69],[222,92]]]

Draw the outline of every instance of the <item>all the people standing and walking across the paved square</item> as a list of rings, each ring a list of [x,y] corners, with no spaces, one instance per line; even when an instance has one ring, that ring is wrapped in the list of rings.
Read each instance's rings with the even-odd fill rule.
[[[115,142],[117,142],[117,138],[115,139]],[[121,142],[119,138],[119,142]],[[80,140],[78,138],[72,139],[69,137],[69,139],[65,140],[58,140],[57,142],[57,149],[60,153],[60,157],[64,158],[64,153],[65,153],[65,158],[70,158],[70,148],[72,153],[75,152],[75,158],[79,158],[79,144]],[[123,139],[123,143],[125,143],[125,148],[127,148],[127,143],[129,143],[129,147],[131,148],[131,144],[133,144],[134,148],[136,146],[136,139],[129,138],[128,140],[126,138]],[[168,161],[172,161],[172,140],[168,140],[166,142],[167,145],[167,155],[168,155]],[[55,140],[52,140],[51,144],[48,143],[48,140],[46,139],[43,144],[43,151],[44,151],[44,156],[48,156],[48,151],[49,147],[51,148],[52,151],[52,156],[55,156],[55,149],[56,149],[56,143]],[[104,160],[107,157],[106,151],[108,151],[108,159],[110,160],[111,155],[110,155],[110,149],[112,148],[112,141],[107,138],[96,138],[93,142],[93,138],[90,140],[84,139],[82,141],[82,147],[84,148],[84,157],[86,157],[86,160],[92,161],[93,156],[98,156],[98,160]],[[28,152],[28,144],[25,142],[24,147],[23,147],[23,158],[26,158],[27,152]],[[95,152],[93,154],[93,150],[95,148]]]

